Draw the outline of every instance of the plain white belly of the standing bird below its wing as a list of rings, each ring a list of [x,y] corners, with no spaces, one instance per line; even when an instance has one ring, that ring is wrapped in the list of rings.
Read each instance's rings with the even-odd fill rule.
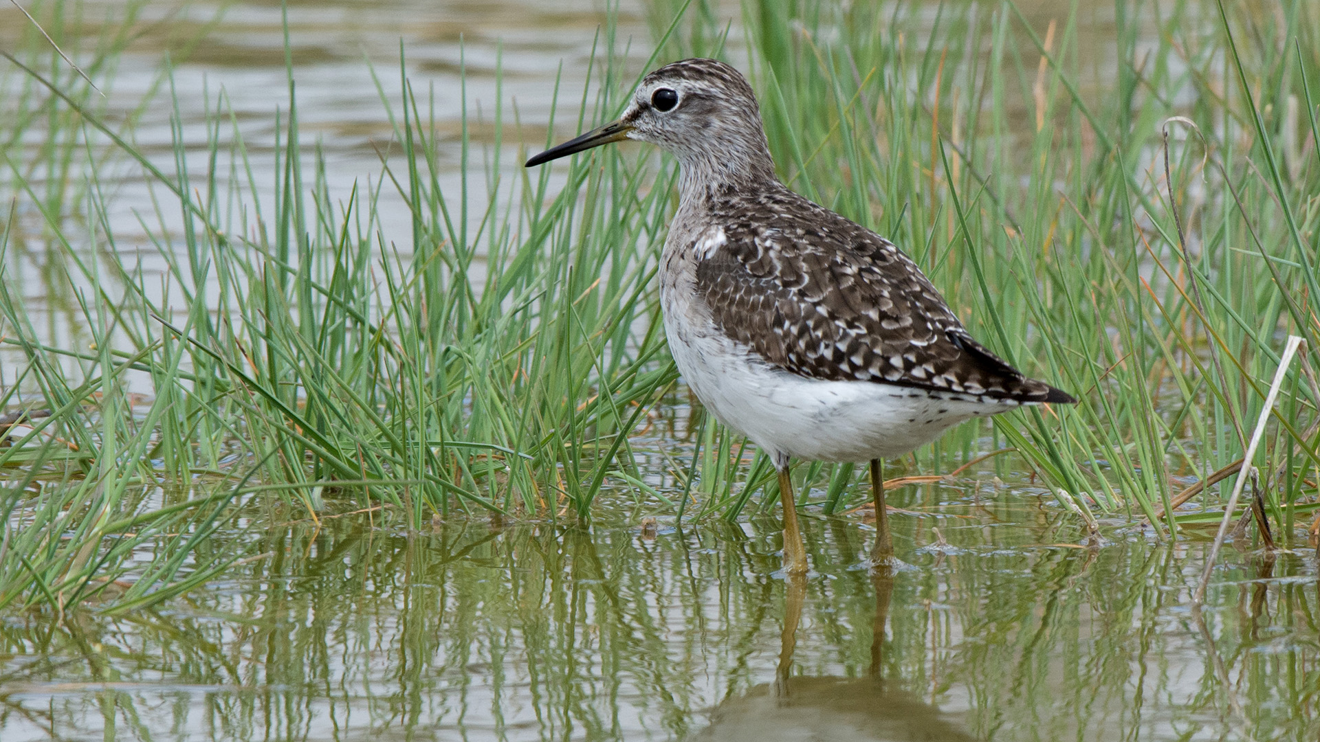
[[[776,465],[787,463],[787,457],[892,458],[958,422],[1019,407],[1011,400],[874,382],[807,379],[754,359],[744,346],[710,326],[685,321],[684,314],[665,312],[678,372],[721,422],[751,438]]]

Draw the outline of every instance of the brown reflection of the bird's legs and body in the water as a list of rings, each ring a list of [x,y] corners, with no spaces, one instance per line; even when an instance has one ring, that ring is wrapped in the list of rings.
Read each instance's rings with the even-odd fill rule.
[[[878,570],[875,623],[870,673],[866,677],[805,677],[791,673],[803,615],[807,581],[789,578],[785,591],[784,630],[780,635],[775,683],[752,688],[731,698],[711,714],[711,724],[689,739],[775,742],[780,739],[833,742],[975,739],[949,714],[917,696],[895,688],[882,676],[884,630],[890,617],[894,576]]]

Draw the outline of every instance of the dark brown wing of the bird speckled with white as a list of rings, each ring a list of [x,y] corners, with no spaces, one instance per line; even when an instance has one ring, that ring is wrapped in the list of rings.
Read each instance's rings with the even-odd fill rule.
[[[696,290],[726,335],[810,379],[1072,401],[974,341],[891,242],[810,206],[694,240]]]

